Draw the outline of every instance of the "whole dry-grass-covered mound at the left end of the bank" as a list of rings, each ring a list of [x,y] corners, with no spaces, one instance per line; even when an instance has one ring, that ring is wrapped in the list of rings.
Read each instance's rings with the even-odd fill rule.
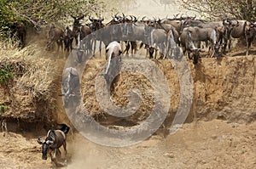
[[[44,121],[46,114],[42,113],[51,112],[59,72],[55,60],[48,55],[49,52],[36,43],[20,49],[11,40],[0,42],[0,65],[10,65],[14,74],[7,86],[0,86],[5,93],[0,103],[9,106],[6,116]]]

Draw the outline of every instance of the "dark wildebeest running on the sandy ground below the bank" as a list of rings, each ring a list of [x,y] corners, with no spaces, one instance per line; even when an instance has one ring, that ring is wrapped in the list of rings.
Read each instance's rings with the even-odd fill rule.
[[[62,124],[64,127],[65,124]],[[38,144],[42,144],[42,159],[47,160],[47,155],[49,153],[51,161],[55,163],[56,166],[64,166],[58,161],[61,157],[60,147],[63,146],[65,151],[65,165],[67,165],[67,144],[66,144],[66,134],[69,127],[65,125],[66,133],[61,130],[50,129],[44,140],[41,137],[38,138]]]

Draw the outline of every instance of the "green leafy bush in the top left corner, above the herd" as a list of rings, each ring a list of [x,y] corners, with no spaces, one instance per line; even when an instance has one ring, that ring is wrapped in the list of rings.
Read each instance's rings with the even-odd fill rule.
[[[0,36],[14,35],[15,24],[33,26],[55,23],[72,15],[102,14],[105,9],[100,0],[0,0]]]

